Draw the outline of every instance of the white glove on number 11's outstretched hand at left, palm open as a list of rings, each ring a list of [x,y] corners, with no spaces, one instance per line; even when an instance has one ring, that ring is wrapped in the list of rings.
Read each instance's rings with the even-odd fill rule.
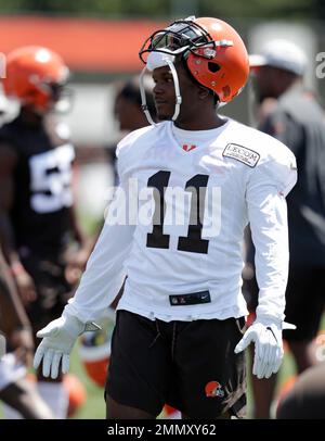
[[[37,369],[43,361],[42,374],[44,377],[56,378],[62,360],[62,373],[69,370],[69,354],[75,341],[86,330],[101,329],[94,323],[83,324],[77,317],[63,315],[37,332],[37,337],[43,338],[37,348],[34,357],[34,367]]]

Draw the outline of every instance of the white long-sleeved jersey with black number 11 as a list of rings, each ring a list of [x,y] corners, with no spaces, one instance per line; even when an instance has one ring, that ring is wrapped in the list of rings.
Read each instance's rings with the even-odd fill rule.
[[[166,322],[245,316],[242,243],[250,223],[258,313],[283,319],[294,154],[232,119],[182,147],[172,127],[135,130],[119,143],[125,217],[133,225],[106,222],[66,312],[98,319],[127,275],[118,308]]]

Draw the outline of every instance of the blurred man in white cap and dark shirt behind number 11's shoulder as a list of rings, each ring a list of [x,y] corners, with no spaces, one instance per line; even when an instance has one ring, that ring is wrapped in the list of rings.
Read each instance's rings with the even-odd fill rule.
[[[286,319],[297,330],[285,331],[284,337],[301,373],[316,363],[313,340],[325,304],[324,112],[303,87],[307,58],[295,43],[269,41],[260,54],[250,55],[250,66],[258,128],[288,146],[297,159],[298,182],[287,198],[290,263],[285,310]],[[248,268],[252,265],[250,248]],[[253,303],[257,286],[252,276],[246,289]],[[256,417],[269,417],[275,381],[275,376],[252,378]]]

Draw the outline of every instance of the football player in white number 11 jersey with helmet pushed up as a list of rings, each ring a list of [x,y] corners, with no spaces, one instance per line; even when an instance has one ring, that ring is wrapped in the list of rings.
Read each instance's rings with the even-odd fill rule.
[[[245,45],[225,22],[188,17],[155,32],[140,56],[155,81],[159,124],[118,147],[120,187],[74,299],[38,332],[35,355],[56,377],[84,329],[105,315],[125,275],[106,385],[107,418],[243,416],[244,349],[253,374],[283,357],[288,241],[286,194],[294,154],[216,111],[246,84]],[[145,104],[143,109],[151,122]],[[242,240],[250,223],[260,286],[245,332]]]

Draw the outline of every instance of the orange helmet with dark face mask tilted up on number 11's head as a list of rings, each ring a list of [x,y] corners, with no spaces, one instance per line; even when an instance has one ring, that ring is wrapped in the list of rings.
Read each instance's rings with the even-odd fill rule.
[[[240,92],[249,74],[242,38],[219,18],[178,20],[166,29],[156,30],[144,42],[140,50],[144,63],[151,52],[181,55],[192,76],[224,103]]]

